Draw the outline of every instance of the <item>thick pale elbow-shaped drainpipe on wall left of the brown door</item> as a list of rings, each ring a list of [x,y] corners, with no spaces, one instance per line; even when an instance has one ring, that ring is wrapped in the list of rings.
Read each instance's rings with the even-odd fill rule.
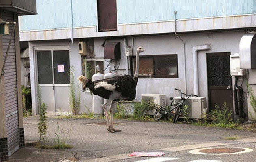
[[[198,62],[197,62],[197,51],[199,50],[210,50],[211,44],[194,46],[193,50],[193,70],[194,70],[194,95],[199,96],[199,86],[198,86]]]

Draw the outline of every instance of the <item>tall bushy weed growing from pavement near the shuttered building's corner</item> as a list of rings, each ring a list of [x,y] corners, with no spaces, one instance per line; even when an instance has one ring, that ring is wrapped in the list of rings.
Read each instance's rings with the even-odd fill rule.
[[[45,147],[45,136],[47,133],[47,105],[46,103],[42,103],[41,100],[41,90],[39,85],[37,85],[37,101],[38,101],[38,109],[39,109],[39,122],[37,124],[38,133],[39,133],[39,143],[42,142],[42,147]]]

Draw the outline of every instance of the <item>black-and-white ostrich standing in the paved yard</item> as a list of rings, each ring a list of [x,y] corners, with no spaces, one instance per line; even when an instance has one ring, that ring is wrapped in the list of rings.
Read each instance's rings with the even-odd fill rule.
[[[102,108],[107,118],[107,130],[111,133],[121,131],[113,128],[113,113],[115,111],[116,101],[132,101],[135,99],[136,85],[139,75],[139,53],[144,51],[145,49],[142,47],[137,48],[134,77],[130,75],[123,75],[96,81],[92,81],[83,75],[78,77],[79,82],[83,84],[84,88],[89,88],[94,95],[108,99],[107,102],[102,105]],[[109,104],[110,118],[107,112]]]

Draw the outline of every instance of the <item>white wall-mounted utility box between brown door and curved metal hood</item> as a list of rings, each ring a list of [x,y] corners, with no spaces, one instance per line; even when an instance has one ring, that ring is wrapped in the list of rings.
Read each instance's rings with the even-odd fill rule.
[[[243,76],[243,69],[240,69],[240,54],[230,55],[230,74],[231,76]]]

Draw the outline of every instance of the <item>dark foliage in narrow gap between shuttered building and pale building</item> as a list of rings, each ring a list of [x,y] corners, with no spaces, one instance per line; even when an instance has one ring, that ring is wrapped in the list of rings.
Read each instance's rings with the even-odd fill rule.
[[[23,117],[28,117],[32,115],[32,105],[31,105],[31,88],[25,87],[24,85],[21,86],[21,93],[22,93],[22,110],[23,110]],[[30,100],[29,100],[30,97]]]

